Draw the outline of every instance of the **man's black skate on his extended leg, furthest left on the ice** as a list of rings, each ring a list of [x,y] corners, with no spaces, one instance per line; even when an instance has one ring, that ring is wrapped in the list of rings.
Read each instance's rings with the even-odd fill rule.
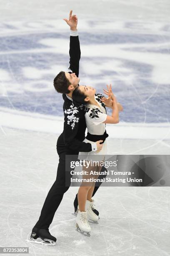
[[[55,245],[57,239],[54,236],[51,236],[48,229],[34,227],[32,228],[30,239],[26,241],[46,245]]]

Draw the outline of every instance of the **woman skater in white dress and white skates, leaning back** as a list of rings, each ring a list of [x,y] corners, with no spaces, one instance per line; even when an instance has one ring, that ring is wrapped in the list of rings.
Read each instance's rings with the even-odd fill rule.
[[[107,142],[105,124],[106,123],[119,123],[119,111],[122,111],[122,105],[117,102],[115,95],[112,92],[112,86],[107,85],[107,90],[104,89],[104,93],[109,97],[106,99],[102,94],[96,93],[95,88],[90,86],[78,86],[72,93],[72,99],[75,102],[85,105],[85,120],[87,125],[87,136],[84,142],[94,143],[95,141],[101,140],[103,144],[100,152],[79,152],[78,159],[85,159],[86,164],[82,167],[83,171],[86,171],[86,175],[83,175],[83,179],[96,179],[99,175],[102,165],[100,163],[104,161],[104,156],[107,154]],[[105,106],[112,108],[112,115],[107,115]],[[98,157],[98,166],[90,166],[89,162],[93,159],[96,161]],[[100,160],[99,160],[100,159]],[[88,168],[87,168],[88,166]],[[96,175],[90,175],[90,171],[97,172]],[[97,222],[99,216],[92,211],[92,193],[95,187],[95,182],[82,182],[78,190],[78,209],[76,226],[77,231],[80,231],[85,236],[90,236],[90,225],[88,220]]]

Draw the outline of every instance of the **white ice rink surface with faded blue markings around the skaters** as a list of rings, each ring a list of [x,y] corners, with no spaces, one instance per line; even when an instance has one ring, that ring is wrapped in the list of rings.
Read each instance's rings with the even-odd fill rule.
[[[107,125],[108,154],[170,154],[170,2],[1,0],[0,9],[0,246],[29,246],[32,256],[170,255],[166,184],[101,187],[90,238],[75,231],[71,187],[50,226],[57,246],[25,242],[57,172],[63,113],[53,79],[67,71],[70,39],[62,19],[78,17],[80,84],[102,92],[112,83],[124,107]]]

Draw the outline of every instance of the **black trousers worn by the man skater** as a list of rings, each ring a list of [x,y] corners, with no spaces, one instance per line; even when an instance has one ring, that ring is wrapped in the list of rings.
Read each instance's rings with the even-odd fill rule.
[[[52,220],[54,218],[55,212],[57,208],[60,205],[60,202],[62,201],[62,197],[64,193],[69,189],[70,184],[66,187],[65,186],[65,152],[62,152],[59,154],[59,164],[57,168],[57,177],[50,188],[50,191],[47,194],[47,197],[45,199],[44,205],[41,210],[40,218],[35,224],[35,227],[37,228],[45,228],[48,229],[50,224],[52,223]],[[107,171],[105,167],[102,167],[102,172]],[[71,176],[70,176],[71,177]],[[106,175],[100,175],[99,178],[102,179],[106,177]],[[102,182],[98,182],[96,185],[97,187],[94,188],[92,196],[95,195],[95,192],[99,188]],[[77,209],[78,206],[78,200],[77,195],[74,200],[74,207]]]

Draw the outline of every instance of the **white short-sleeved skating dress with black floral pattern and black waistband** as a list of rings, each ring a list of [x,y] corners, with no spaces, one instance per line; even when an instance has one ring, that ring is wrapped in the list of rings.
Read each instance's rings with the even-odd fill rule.
[[[89,103],[85,107],[85,120],[86,120],[86,125],[87,125],[87,136],[83,142],[94,143],[94,141],[102,140],[103,135],[104,135],[104,137],[108,136],[106,133],[106,125],[105,125],[105,123],[102,123],[107,118],[105,104],[102,101],[100,101],[100,99],[102,97],[103,97],[103,95],[100,93],[95,94],[95,100],[98,103],[98,105],[100,106],[100,108],[97,105],[93,105],[93,104],[89,104]],[[88,138],[91,138],[91,141]],[[93,139],[93,141],[92,141],[92,139]],[[107,154],[107,139],[106,138],[103,143],[102,150],[100,150],[99,152],[96,152],[96,151],[79,152],[78,159],[92,160],[92,156],[105,155],[105,154]],[[97,159],[97,158],[95,157],[95,159]],[[101,157],[100,157],[100,159],[101,159]]]

